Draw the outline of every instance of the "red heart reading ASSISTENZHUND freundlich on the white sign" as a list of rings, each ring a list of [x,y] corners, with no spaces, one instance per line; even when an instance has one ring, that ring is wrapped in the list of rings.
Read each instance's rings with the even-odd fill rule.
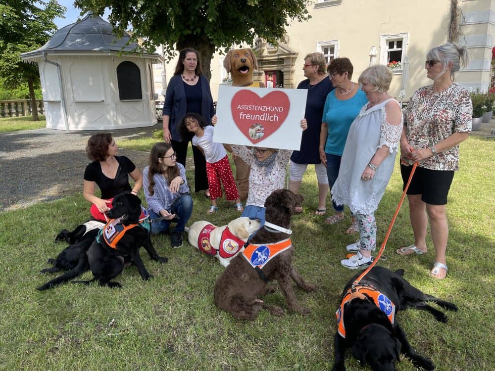
[[[268,138],[284,123],[291,102],[279,90],[262,98],[250,90],[241,90],[234,94],[230,107],[237,127],[254,144]]]

